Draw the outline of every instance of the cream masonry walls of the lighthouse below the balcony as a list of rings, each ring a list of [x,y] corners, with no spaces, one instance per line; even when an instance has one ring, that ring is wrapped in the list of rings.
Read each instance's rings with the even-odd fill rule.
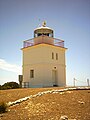
[[[30,78],[30,70],[34,70],[34,78]],[[23,49],[23,82],[29,82],[30,87],[53,86],[52,70],[57,71],[57,85],[65,86],[65,48],[38,44]]]

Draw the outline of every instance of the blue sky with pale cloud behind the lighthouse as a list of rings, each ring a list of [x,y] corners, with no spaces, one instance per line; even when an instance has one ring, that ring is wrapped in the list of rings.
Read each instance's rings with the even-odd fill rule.
[[[90,0],[0,0],[0,84],[18,82],[23,41],[43,21],[65,41],[68,86],[90,80]]]

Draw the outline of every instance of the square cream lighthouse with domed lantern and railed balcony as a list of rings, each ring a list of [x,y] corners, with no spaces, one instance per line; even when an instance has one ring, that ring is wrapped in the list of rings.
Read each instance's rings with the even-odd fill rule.
[[[66,86],[66,49],[44,21],[34,30],[34,38],[23,41],[22,87]]]

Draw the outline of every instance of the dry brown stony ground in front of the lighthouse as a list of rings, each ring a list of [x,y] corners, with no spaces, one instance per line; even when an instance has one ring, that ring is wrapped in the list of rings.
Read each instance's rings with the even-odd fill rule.
[[[9,102],[53,90],[10,106],[8,112],[0,114],[0,120],[61,120],[64,115],[69,120],[90,120],[90,90],[60,92],[60,89],[62,88],[0,91],[0,102]]]

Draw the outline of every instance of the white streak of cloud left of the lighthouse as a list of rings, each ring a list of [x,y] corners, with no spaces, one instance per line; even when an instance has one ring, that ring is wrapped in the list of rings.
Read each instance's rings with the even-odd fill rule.
[[[22,68],[15,64],[10,64],[4,59],[0,59],[0,69],[21,74]]]

